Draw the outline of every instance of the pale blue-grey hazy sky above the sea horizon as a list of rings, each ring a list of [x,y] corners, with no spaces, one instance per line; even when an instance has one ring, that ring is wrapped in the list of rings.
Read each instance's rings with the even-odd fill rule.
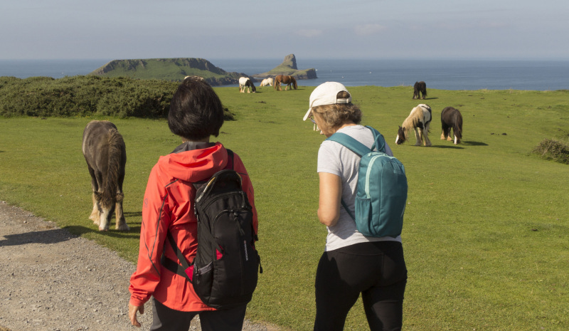
[[[0,59],[560,58],[567,0],[1,0]]]

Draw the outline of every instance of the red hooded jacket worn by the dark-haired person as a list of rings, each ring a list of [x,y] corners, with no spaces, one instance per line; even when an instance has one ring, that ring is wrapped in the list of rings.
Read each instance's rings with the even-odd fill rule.
[[[138,265],[130,278],[132,305],[144,305],[154,295],[156,300],[174,310],[215,310],[201,302],[186,278],[172,273],[160,263],[164,250],[166,257],[179,263],[166,240],[167,231],[172,233],[188,262],[193,261],[198,245],[198,225],[193,214],[196,190],[191,183],[209,179],[228,164],[227,150],[220,142],[204,149],[186,149],[188,143],[177,147],[172,154],[160,157],[150,172],[142,205]],[[256,233],[253,186],[243,162],[235,153],[233,169],[243,179]]]

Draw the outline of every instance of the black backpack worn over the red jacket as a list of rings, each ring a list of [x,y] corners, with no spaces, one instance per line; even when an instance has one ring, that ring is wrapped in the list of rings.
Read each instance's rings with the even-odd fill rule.
[[[198,249],[191,265],[186,261],[168,232],[169,242],[180,266],[169,258],[163,265],[183,275],[203,303],[218,310],[248,303],[257,287],[257,273],[262,273],[255,249],[257,235],[253,228],[252,208],[241,187],[241,177],[233,170],[233,152],[229,151],[231,169],[223,169],[205,184],[196,183],[194,211],[198,219]]]

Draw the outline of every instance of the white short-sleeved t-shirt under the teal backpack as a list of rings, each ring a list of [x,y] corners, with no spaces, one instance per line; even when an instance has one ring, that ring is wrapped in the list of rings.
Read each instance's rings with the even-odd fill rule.
[[[373,133],[362,125],[349,125],[343,127],[338,132],[342,132],[371,148],[373,145]],[[385,142],[385,153],[393,156],[393,152]],[[356,186],[358,184],[358,167],[360,157],[350,149],[338,142],[324,140],[318,150],[317,172],[328,172],[341,177],[342,199],[348,205],[352,215],[354,215],[354,204],[356,201]],[[340,218],[336,225],[328,226],[328,236],[326,237],[326,251],[333,251],[355,243],[366,243],[369,241],[399,241],[401,236],[393,237],[367,237],[363,236],[356,229],[356,222],[351,216],[340,208]]]

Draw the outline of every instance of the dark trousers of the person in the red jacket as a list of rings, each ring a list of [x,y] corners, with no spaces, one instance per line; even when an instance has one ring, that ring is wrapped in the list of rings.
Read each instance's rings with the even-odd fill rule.
[[[151,331],[188,331],[193,317],[200,315],[202,331],[241,331],[245,310],[243,305],[231,310],[206,310],[203,312],[181,312],[162,305],[154,299]]]

